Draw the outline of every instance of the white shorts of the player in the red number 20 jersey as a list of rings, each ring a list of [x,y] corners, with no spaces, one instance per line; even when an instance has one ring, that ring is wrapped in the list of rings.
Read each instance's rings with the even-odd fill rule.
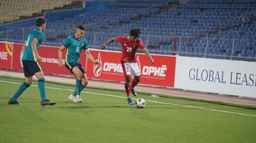
[[[140,70],[137,62],[122,63],[124,75],[140,76]]]

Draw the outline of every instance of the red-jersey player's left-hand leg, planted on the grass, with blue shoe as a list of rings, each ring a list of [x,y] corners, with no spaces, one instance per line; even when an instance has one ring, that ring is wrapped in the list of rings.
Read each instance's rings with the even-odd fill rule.
[[[124,71],[124,78],[125,78],[125,83],[124,83],[124,88],[125,92],[127,93],[127,101],[129,105],[133,105],[132,98],[130,96],[130,90],[131,90],[131,70],[129,63],[122,63],[122,69]]]

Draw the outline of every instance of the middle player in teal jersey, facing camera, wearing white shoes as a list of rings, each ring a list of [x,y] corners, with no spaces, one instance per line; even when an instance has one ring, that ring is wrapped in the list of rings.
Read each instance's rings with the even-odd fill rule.
[[[85,50],[85,55],[88,59],[90,59],[91,62],[95,63],[97,66],[102,66],[102,64],[95,61],[95,59],[93,59],[92,55],[90,54],[87,40],[82,38],[84,34],[85,28],[82,25],[78,25],[75,28],[75,35],[66,38],[58,50],[58,57],[60,61],[59,67],[63,67],[64,64],[62,51],[67,49],[67,53],[65,55],[65,67],[76,76],[75,91],[68,97],[68,100],[74,103],[82,103],[80,92],[88,84],[86,71],[79,62],[82,50]]]

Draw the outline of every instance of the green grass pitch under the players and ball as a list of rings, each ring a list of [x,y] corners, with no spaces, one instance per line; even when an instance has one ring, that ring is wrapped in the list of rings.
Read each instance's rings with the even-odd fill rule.
[[[21,83],[0,76],[0,142],[256,142],[255,107],[138,92],[146,107],[137,109],[124,91],[90,87],[71,103],[74,85],[49,82],[57,104],[41,107],[37,81],[18,98],[23,105],[8,105]]]

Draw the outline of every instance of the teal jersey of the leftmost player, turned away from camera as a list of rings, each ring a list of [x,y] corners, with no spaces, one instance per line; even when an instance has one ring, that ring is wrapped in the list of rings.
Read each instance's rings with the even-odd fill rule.
[[[38,43],[36,44],[36,49],[38,50],[39,46],[43,42],[43,31],[36,28],[35,30],[32,30],[31,33],[29,33],[28,37],[26,38],[26,48],[24,50],[23,57],[21,60],[29,60],[36,62],[36,56],[34,55],[31,47],[31,42],[34,38],[38,39]]]

